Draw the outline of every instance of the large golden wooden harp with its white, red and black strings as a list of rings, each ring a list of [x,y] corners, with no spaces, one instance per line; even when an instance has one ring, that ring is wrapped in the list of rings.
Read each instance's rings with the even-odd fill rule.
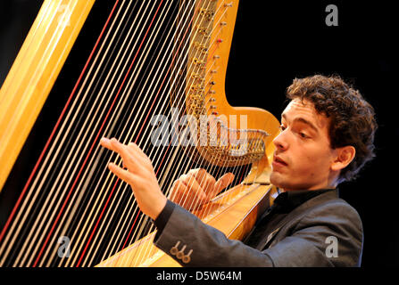
[[[154,247],[154,225],[107,170],[121,161],[99,146],[102,136],[137,142],[167,196],[190,168],[233,172],[231,188],[193,210],[231,239],[244,238],[275,195],[278,120],[230,106],[224,90],[238,1],[108,2],[76,83],[54,90],[96,4],[46,0],[1,88],[0,187],[2,199],[15,197],[2,210],[1,266],[179,265]],[[19,179],[42,112],[65,93]]]

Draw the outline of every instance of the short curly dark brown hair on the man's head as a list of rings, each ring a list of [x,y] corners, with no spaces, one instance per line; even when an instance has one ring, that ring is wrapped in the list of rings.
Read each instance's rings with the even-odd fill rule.
[[[328,135],[332,149],[354,147],[355,157],[341,170],[338,183],[355,179],[365,163],[375,157],[374,135],[378,125],[370,103],[338,76],[295,78],[287,88],[287,99],[295,98],[312,102],[319,114],[330,118]]]

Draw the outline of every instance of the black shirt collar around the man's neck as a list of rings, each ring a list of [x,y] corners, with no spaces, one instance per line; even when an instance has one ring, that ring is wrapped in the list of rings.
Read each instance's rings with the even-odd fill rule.
[[[279,191],[279,190],[278,190]],[[298,207],[309,199],[322,193],[332,191],[338,197],[338,189],[320,189],[320,190],[295,190],[286,191],[278,194],[274,200],[274,205],[281,211],[288,212]]]

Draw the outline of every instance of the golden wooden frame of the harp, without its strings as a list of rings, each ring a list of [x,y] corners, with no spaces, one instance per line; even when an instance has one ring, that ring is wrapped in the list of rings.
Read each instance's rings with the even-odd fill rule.
[[[219,1],[220,2],[220,1]],[[12,170],[21,148],[50,93],[62,65],[71,51],[79,30],[89,14],[94,0],[46,0],[37,14],[28,37],[12,65],[0,90],[0,189]],[[264,141],[263,158],[254,164],[243,183],[226,191],[195,212],[206,210],[204,222],[224,232],[230,239],[241,240],[253,227],[257,216],[268,207],[276,195],[270,185],[270,161],[274,152],[272,139],[278,134],[279,122],[270,112],[258,108],[229,105],[224,90],[238,1],[229,1],[229,22],[218,37],[223,38],[218,55],[219,72],[213,75],[218,85],[215,98],[221,114],[248,116],[248,129],[270,134]],[[60,9],[68,7],[68,9]],[[216,37],[212,35],[211,37]],[[209,54],[209,57],[213,56]],[[265,123],[266,122],[266,123]],[[234,221],[234,222],[232,222]],[[132,248],[148,247],[150,234],[143,240],[124,248],[118,254],[104,260],[98,266],[130,266],[137,256],[129,256]],[[1,244],[1,243],[0,243]],[[139,266],[179,266],[170,256],[152,246],[150,258]]]

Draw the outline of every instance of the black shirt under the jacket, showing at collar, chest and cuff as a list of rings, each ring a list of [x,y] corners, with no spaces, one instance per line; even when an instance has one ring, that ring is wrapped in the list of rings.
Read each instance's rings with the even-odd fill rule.
[[[279,192],[278,197],[274,200],[273,205],[268,208],[263,215],[257,220],[252,231],[247,235],[243,242],[259,250],[263,250],[266,246],[264,239],[270,234],[270,232],[275,228],[275,226],[290,213],[293,209],[303,204],[308,199],[312,199],[320,195],[321,193],[327,191],[335,191],[338,196],[337,189],[321,189],[316,191],[286,191]],[[162,209],[160,215],[155,219],[154,224],[157,227],[158,232],[156,232],[155,240],[162,233],[163,228],[168,223],[171,213],[175,208],[175,204],[169,199]],[[269,243],[268,240],[267,243]]]

